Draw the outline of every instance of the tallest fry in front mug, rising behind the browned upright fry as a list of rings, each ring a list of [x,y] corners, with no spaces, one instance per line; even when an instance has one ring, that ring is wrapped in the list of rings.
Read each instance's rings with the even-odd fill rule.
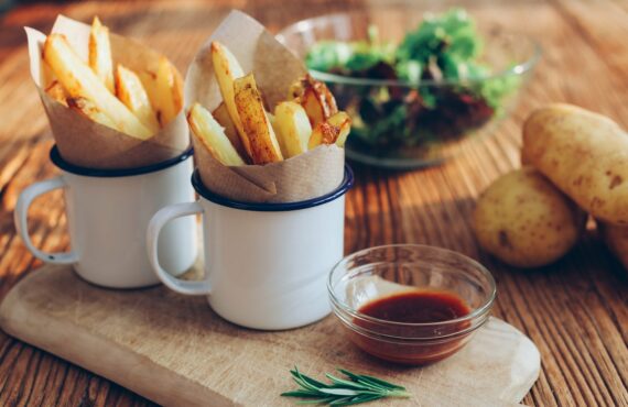
[[[223,95],[223,100],[227,106],[227,111],[238,130],[238,134],[247,154],[251,156],[251,145],[242,125],[242,121],[240,120],[234,92],[234,81],[237,78],[245,76],[245,72],[229,48],[216,41],[212,43],[212,63],[214,64],[214,73],[216,74],[216,80],[220,88],[220,95]]]

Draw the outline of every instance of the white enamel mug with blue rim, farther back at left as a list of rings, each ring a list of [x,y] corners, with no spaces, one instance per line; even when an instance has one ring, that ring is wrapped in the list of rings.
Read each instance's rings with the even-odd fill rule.
[[[132,169],[90,169],[65,162],[57,147],[51,161],[62,175],[25,188],[15,207],[15,228],[33,255],[46,263],[72,264],[89,283],[111,288],[159,284],[147,256],[145,231],[161,208],[194,199],[190,185],[192,148],[177,157]],[[45,253],[28,231],[26,215],[37,196],[63,188],[72,251]],[[178,219],[164,229],[160,261],[182,274],[197,255],[196,222]]]

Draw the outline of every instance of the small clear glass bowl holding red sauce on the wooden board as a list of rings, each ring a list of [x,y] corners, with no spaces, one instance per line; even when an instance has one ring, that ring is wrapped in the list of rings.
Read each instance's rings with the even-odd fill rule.
[[[423,365],[461,350],[489,318],[495,279],[459,253],[419,244],[377,246],[342,260],[327,282],[332,309],[358,348],[386,361]],[[431,323],[404,323],[367,316],[359,309],[391,295],[426,290],[453,294],[469,314]]]

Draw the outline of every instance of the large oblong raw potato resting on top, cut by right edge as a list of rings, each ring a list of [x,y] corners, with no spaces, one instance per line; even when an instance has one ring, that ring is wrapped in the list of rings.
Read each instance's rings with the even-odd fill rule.
[[[628,135],[613,120],[570,105],[539,109],[523,127],[522,161],[596,219],[628,226]]]

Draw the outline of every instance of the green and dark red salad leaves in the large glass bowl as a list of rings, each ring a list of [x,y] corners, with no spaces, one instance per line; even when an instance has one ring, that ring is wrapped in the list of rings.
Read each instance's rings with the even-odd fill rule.
[[[370,26],[365,41],[315,44],[305,63],[318,72],[409,84],[327,84],[354,119],[356,136],[349,143],[372,152],[456,139],[500,114],[521,78],[491,76],[490,66],[479,61],[483,47],[474,20],[456,8],[425,14],[399,45],[381,41]]]

